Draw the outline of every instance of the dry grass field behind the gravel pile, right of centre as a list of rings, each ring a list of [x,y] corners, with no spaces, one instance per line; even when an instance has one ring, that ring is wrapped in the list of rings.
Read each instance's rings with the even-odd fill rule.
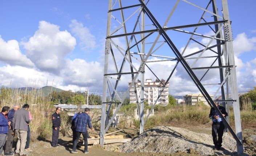
[[[168,108],[168,109],[167,109]],[[172,106],[163,108],[163,106],[157,106],[155,115],[150,117],[145,123],[144,128],[152,128],[155,126],[175,126],[179,125],[204,125],[211,121],[208,118],[210,113],[210,107],[206,105],[183,105]],[[242,110],[241,123],[243,126],[252,127],[256,125],[256,111],[255,110]],[[234,126],[234,113],[231,109],[229,114],[230,125]],[[133,120],[134,126],[139,128],[139,120]],[[256,126],[255,126],[256,127]]]

